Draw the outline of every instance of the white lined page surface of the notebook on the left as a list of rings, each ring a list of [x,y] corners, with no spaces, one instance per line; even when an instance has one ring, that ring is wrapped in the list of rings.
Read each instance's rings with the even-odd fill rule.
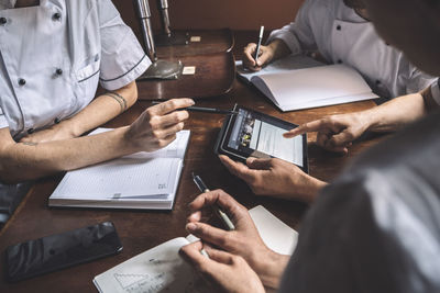
[[[178,158],[119,158],[69,171],[51,199],[106,200],[169,194],[182,160]]]

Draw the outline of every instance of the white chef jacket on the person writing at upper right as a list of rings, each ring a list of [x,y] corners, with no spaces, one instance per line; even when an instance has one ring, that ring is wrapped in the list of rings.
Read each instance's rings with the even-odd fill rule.
[[[342,0],[306,0],[295,22],[272,32],[267,42],[274,38],[284,41],[293,54],[318,50],[329,63],[353,67],[383,98],[415,93],[435,81]]]

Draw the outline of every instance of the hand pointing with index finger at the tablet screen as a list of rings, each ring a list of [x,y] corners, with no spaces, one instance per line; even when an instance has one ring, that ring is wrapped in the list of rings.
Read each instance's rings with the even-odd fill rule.
[[[349,153],[353,140],[369,128],[367,115],[364,112],[332,115],[302,124],[284,137],[292,138],[306,132],[318,132],[317,144],[324,149],[337,153]]]

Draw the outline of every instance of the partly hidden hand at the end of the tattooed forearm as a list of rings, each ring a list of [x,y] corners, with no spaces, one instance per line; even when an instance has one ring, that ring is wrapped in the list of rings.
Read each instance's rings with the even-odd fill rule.
[[[78,137],[80,134],[75,134],[75,129],[68,123],[68,120],[61,122],[59,124],[54,124],[46,129],[42,129],[30,134],[20,139],[20,143],[47,143],[55,140],[64,140]]]

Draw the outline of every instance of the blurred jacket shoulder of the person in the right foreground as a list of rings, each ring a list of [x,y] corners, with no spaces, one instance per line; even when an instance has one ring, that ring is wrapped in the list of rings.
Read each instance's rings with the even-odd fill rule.
[[[321,191],[279,292],[440,292],[439,132],[438,111]]]

